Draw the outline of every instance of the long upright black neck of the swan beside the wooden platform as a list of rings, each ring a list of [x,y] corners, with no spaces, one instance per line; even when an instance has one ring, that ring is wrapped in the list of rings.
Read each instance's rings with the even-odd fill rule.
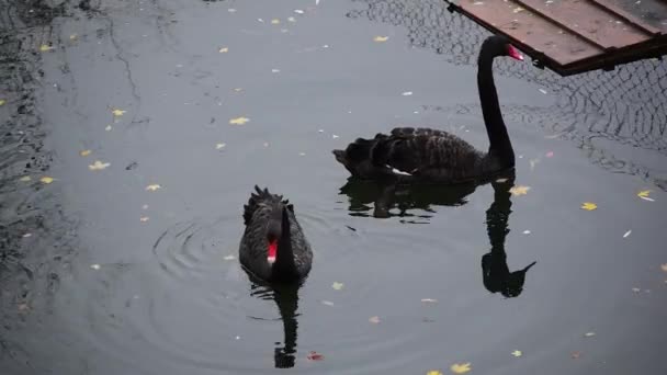
[[[515,151],[507,134],[507,127],[502,121],[498,92],[494,82],[494,55],[488,50],[487,44],[482,47],[477,61],[477,88],[479,90],[479,102],[484,114],[484,124],[490,146],[489,156],[500,161],[502,167],[515,166]],[[485,48],[487,47],[487,48]]]

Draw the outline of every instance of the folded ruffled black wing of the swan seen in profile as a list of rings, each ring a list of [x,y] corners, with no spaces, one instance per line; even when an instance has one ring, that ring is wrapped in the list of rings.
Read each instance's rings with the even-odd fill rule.
[[[450,133],[431,128],[397,127],[373,149],[373,164],[397,174],[436,181],[473,177],[484,155]]]

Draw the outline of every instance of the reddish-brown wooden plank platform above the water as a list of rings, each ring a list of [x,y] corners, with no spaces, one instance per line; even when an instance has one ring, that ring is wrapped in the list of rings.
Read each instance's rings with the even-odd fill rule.
[[[667,0],[444,1],[562,76],[667,55]]]

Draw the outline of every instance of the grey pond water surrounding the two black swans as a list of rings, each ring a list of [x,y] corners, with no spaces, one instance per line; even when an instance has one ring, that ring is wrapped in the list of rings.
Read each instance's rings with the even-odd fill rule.
[[[487,145],[487,34],[440,1],[7,1],[2,375],[667,372],[665,63],[499,60],[516,181],[391,191],[330,150],[396,125]],[[298,289],[239,268],[255,184],[313,245]]]

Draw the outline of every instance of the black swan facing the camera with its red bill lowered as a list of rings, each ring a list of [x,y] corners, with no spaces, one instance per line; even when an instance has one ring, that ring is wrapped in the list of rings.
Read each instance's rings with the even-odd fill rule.
[[[308,275],[313,250],[296,217],[294,206],[268,189],[250,195],[244,206],[246,230],[239,247],[241,265],[268,282],[294,282]]]

